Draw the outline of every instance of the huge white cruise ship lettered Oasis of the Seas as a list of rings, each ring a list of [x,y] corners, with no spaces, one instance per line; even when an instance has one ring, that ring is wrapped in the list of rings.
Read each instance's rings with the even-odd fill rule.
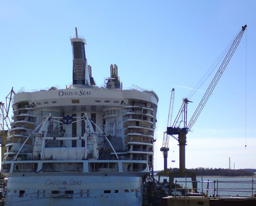
[[[77,28],[70,41],[71,85],[13,96],[1,170],[8,177],[5,205],[142,205],[158,97],[123,90],[115,64],[98,87]]]

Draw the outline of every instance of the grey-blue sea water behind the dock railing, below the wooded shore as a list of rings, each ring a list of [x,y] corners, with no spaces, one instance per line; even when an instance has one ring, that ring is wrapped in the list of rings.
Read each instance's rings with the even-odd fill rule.
[[[158,180],[158,176],[155,176]],[[169,177],[161,176],[160,182],[163,179],[169,181]],[[177,183],[182,185],[184,188],[192,188],[191,178],[174,178]],[[187,183],[185,182],[187,180]],[[250,197],[256,194],[256,177],[206,177],[197,176],[198,181],[198,192],[207,193],[208,185],[208,196],[247,196]],[[207,183],[207,181],[209,183]],[[215,191],[214,191],[215,190]]]

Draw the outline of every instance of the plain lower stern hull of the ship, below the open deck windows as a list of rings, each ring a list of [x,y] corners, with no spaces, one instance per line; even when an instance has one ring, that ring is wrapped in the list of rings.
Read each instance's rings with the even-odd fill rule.
[[[88,161],[84,161],[86,163]],[[7,184],[5,205],[138,206],[142,205],[142,182],[147,174],[148,168],[140,173],[12,173]]]

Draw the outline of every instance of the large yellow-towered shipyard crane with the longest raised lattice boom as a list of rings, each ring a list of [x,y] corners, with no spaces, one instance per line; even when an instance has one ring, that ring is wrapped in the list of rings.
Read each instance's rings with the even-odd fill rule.
[[[212,94],[216,84],[218,83],[221,75],[223,74],[225,68],[227,67],[231,57],[233,56],[238,44],[240,43],[240,40],[243,37],[244,31],[246,29],[247,25],[242,26],[242,30],[238,33],[238,36],[233,41],[228,54],[225,56],[224,60],[222,61],[216,75],[214,76],[212,82],[210,82],[210,85],[208,89],[206,90],[202,100],[200,101],[197,109],[193,113],[188,125],[187,125],[187,105],[189,101],[187,98],[183,99],[182,107],[180,107],[180,110],[178,112],[177,117],[175,118],[175,121],[172,125],[172,127],[167,127],[167,134],[170,135],[178,135],[178,138],[175,138],[178,141],[179,145],[179,173],[186,173],[185,168],[185,145],[186,145],[186,135],[188,131],[191,130],[192,126],[194,125],[195,121],[197,121],[198,116],[202,112],[207,100],[209,99],[209,96]],[[181,118],[181,121],[179,121]],[[183,127],[180,128],[180,123],[183,122]]]

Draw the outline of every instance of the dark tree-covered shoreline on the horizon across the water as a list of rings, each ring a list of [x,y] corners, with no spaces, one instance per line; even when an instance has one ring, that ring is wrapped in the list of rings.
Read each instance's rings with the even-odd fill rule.
[[[178,168],[167,169],[171,173],[178,173]],[[162,170],[163,171],[163,170]],[[160,171],[160,172],[162,172]],[[223,168],[192,168],[186,169],[187,173],[195,172],[197,176],[254,176],[256,175],[256,169],[223,169]]]

